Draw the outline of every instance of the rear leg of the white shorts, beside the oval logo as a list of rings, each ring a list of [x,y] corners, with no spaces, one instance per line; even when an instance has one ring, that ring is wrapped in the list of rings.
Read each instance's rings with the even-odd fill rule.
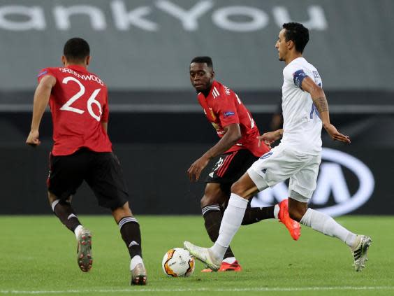
[[[309,161],[296,174],[291,176],[289,182],[289,197],[298,202],[309,202],[316,189],[317,175],[321,162],[320,155],[308,155]]]

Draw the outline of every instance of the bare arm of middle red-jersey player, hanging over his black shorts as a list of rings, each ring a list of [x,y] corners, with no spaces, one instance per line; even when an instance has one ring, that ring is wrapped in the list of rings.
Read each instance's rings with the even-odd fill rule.
[[[238,123],[226,125],[224,130],[226,133],[221,137],[219,142],[217,142],[215,146],[210,148],[210,150],[207,150],[203,156],[191,164],[187,170],[190,181],[198,181],[201,171],[203,171],[203,169],[207,166],[208,162],[210,162],[213,157],[217,157],[226,152],[242,137],[240,125]]]

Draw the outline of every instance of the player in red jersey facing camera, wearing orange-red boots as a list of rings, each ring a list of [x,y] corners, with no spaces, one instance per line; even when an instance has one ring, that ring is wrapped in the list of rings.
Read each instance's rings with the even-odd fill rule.
[[[187,174],[191,181],[198,181],[201,171],[214,157],[219,159],[205,179],[207,183],[201,199],[205,229],[214,242],[219,236],[223,211],[231,193],[231,185],[238,180],[258,157],[268,153],[270,147],[259,143],[258,128],[251,113],[233,90],[214,80],[212,59],[195,57],[190,64],[190,81],[198,92],[198,102],[212,123],[220,140],[191,164]],[[269,144],[268,144],[269,145]],[[287,199],[275,206],[247,208],[242,225],[268,218],[279,218],[289,229],[291,237],[300,237],[300,224],[291,220],[287,211]],[[210,269],[204,269],[210,272]],[[228,247],[219,272],[240,272],[241,267],[233,251]]]

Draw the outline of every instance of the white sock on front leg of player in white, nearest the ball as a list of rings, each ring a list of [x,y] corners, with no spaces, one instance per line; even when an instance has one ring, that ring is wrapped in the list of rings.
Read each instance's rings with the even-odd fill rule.
[[[247,204],[247,199],[231,193],[227,209],[224,211],[223,219],[221,220],[219,237],[212,248],[210,248],[218,259],[223,259],[231,240],[238,231],[238,228],[240,228]]]

